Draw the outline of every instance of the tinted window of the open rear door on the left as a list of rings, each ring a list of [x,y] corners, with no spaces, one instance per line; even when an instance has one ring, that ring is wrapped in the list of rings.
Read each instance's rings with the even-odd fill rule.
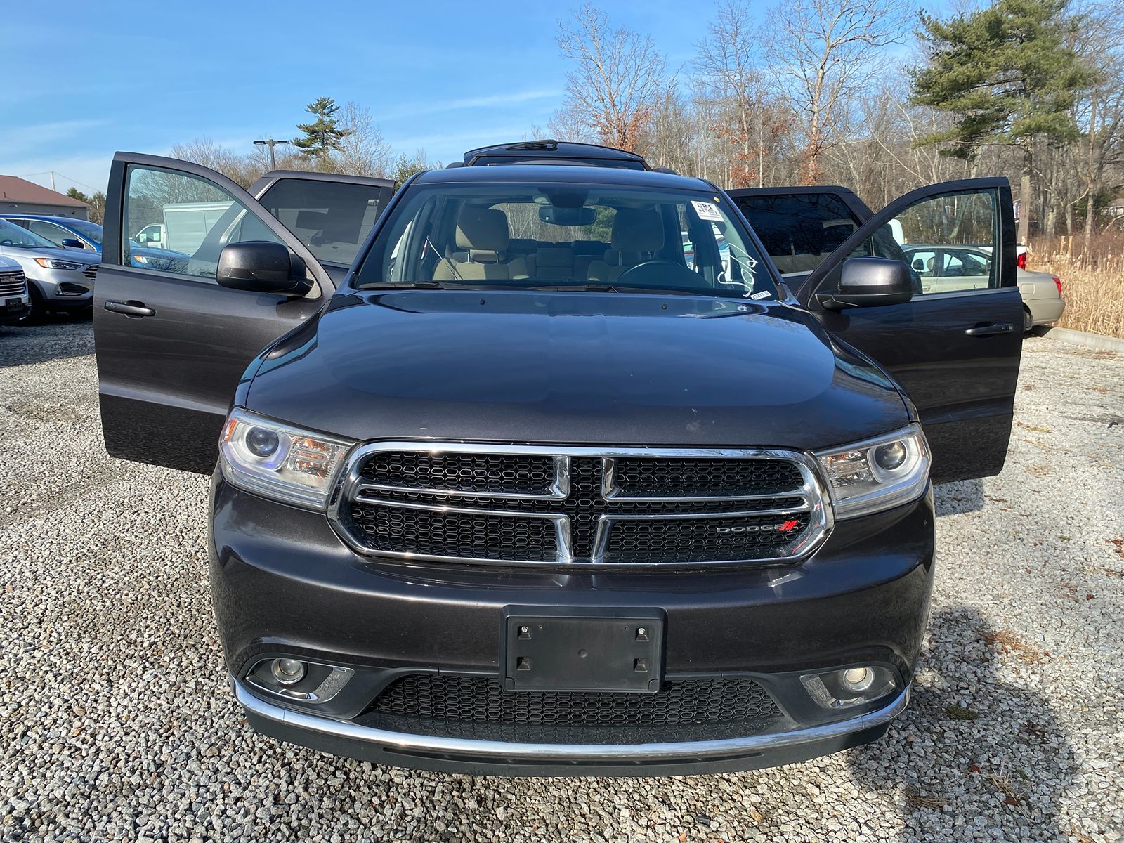
[[[281,179],[259,201],[317,260],[350,266],[390,193],[386,187]]]

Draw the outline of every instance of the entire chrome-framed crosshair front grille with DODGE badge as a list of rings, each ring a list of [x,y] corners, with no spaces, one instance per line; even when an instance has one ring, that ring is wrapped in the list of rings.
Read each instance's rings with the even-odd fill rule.
[[[352,455],[332,518],[365,554],[599,569],[788,562],[831,526],[797,452],[401,442]]]

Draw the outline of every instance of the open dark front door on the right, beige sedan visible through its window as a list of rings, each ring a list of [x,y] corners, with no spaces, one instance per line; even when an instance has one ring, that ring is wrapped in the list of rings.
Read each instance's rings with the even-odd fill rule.
[[[988,256],[986,278],[923,291],[903,246],[972,246]],[[826,310],[850,257],[899,260],[910,301]],[[934,481],[997,474],[1007,454],[1023,306],[1016,284],[1015,220],[1006,179],[933,184],[897,199],[819,263],[799,296],[833,334],[881,363],[917,407],[933,448]]]

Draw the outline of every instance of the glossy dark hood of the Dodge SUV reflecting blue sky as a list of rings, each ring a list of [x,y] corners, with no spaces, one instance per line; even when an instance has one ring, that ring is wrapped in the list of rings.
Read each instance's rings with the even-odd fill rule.
[[[683,296],[341,294],[239,397],[355,439],[810,450],[908,422],[894,382],[806,311]]]

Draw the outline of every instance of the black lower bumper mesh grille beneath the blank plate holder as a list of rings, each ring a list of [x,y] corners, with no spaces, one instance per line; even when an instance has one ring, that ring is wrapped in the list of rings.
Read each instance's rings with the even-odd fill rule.
[[[371,705],[384,715],[528,726],[668,726],[779,717],[749,677],[669,680],[655,694],[505,691],[496,677],[418,673],[395,680]]]

